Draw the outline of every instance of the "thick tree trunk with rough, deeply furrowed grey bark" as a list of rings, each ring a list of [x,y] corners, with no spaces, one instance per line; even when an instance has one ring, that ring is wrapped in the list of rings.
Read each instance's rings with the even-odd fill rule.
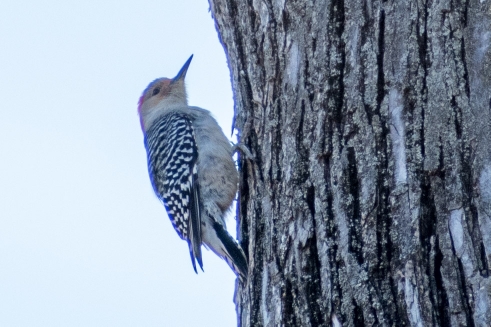
[[[240,326],[491,326],[491,2],[210,0]]]

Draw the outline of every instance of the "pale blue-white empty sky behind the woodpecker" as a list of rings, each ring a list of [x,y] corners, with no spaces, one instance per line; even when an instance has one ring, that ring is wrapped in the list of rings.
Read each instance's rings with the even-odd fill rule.
[[[0,326],[236,325],[235,275],[206,250],[194,273],[137,116],[191,54],[189,103],[230,136],[206,0],[1,1]]]

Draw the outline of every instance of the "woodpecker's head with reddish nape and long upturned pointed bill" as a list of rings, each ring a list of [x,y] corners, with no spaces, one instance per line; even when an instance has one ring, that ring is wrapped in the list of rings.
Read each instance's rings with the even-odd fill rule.
[[[140,124],[143,131],[148,130],[155,119],[164,113],[166,109],[187,105],[184,78],[191,59],[193,59],[193,55],[182,66],[176,77],[172,79],[157,78],[143,91],[140,101],[138,101],[138,115],[140,115]]]

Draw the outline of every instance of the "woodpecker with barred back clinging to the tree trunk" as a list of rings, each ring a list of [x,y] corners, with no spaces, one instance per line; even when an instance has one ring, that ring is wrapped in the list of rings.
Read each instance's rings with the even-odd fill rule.
[[[192,59],[176,77],[151,82],[138,102],[148,173],[174,229],[188,242],[194,271],[196,261],[203,270],[203,244],[244,279],[247,259],[224,219],[237,193],[233,150],[208,110],[188,106],[184,78]]]

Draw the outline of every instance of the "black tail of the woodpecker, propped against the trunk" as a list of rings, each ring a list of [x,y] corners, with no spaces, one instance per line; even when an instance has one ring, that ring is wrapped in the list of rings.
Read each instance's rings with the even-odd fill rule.
[[[248,264],[244,251],[220,223],[213,223],[213,228],[228,253],[228,257],[224,258],[225,261],[236,275],[247,279]]]

